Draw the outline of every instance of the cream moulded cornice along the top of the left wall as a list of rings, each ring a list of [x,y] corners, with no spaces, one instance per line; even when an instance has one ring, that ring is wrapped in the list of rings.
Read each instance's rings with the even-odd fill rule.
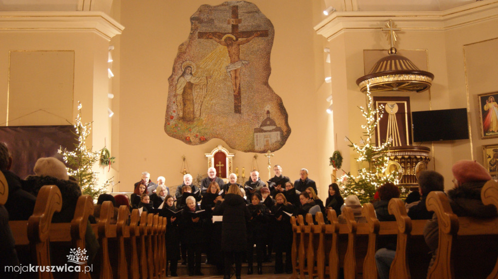
[[[123,32],[124,26],[101,11],[3,11],[0,32],[95,32],[111,40]]]

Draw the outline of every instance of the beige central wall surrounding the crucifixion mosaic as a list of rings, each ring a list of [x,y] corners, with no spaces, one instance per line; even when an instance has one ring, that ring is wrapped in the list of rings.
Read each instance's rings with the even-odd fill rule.
[[[133,190],[133,183],[140,179],[143,171],[150,172],[154,181],[160,175],[166,177],[167,186],[180,184],[183,155],[194,177],[206,175],[204,154],[219,144],[235,153],[234,170],[239,167],[241,174],[244,167],[246,180],[249,178],[254,153],[231,149],[219,139],[189,146],[164,132],[167,78],[171,75],[178,46],[188,37],[189,18],[201,4],[218,5],[222,2],[149,0],[121,3],[120,23],[126,29],[120,36],[119,113],[114,116],[120,123],[119,190]],[[283,174],[292,181],[299,178],[301,168],[307,168],[309,177],[320,188],[320,195],[325,197],[330,184],[328,157],[332,149],[326,152],[319,149],[326,145],[323,144],[326,135],[325,132],[319,134],[318,130],[327,131],[322,125],[330,120],[324,114],[328,105],[317,107],[318,99],[325,103],[323,96],[326,98],[326,93],[320,90],[321,85],[315,77],[315,60],[319,57],[323,63],[323,46],[314,44],[315,40],[321,42],[322,38],[312,29],[312,8],[308,2],[298,0],[252,2],[274,26],[270,57],[272,71],[268,83],[282,98],[292,129],[286,144],[272,152],[271,165],[282,165]],[[314,54],[315,50],[320,54]],[[263,154],[257,154],[256,162],[261,179],[268,180],[267,159]]]

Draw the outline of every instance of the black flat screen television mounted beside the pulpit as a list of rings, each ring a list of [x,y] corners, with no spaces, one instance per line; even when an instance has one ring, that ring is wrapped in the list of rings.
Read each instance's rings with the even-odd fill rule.
[[[412,111],[413,141],[442,141],[469,138],[467,109]]]

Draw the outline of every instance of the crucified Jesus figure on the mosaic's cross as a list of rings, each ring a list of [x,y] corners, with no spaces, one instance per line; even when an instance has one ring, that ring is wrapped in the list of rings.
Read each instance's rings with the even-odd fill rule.
[[[215,42],[219,43],[222,46],[226,46],[228,50],[228,56],[230,57],[230,64],[227,66],[227,73],[230,74],[232,78],[232,87],[234,89],[234,95],[240,94],[240,85],[241,85],[241,67],[242,65],[249,64],[247,60],[241,60],[241,48],[240,45],[247,44],[250,40],[259,36],[260,32],[255,32],[249,38],[238,41],[237,38],[232,34],[227,34],[223,37],[223,40],[220,40],[216,37],[213,37],[212,34],[208,34],[208,39],[213,39]]]

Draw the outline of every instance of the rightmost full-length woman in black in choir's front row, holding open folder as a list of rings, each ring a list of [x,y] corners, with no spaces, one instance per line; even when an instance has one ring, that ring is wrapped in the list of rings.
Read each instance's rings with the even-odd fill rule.
[[[275,196],[276,203],[271,207],[273,220],[273,245],[275,247],[275,274],[284,272],[282,253],[285,252],[285,272],[292,273],[291,248],[292,248],[292,225],[290,216],[294,206],[287,202],[283,193],[277,193]]]

